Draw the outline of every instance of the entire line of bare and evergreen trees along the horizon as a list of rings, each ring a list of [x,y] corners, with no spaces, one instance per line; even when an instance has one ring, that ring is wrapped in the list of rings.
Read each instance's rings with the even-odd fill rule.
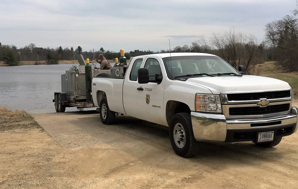
[[[297,2],[298,0],[296,0]],[[298,4],[298,2],[297,2]],[[297,5],[298,6],[298,5]],[[171,50],[161,51],[140,51],[134,50],[125,53],[127,60],[144,54],[166,53],[166,52],[202,52],[218,55],[226,60],[236,69],[239,65],[246,67],[247,74],[258,75],[256,65],[265,61],[276,61],[276,65],[284,71],[298,71],[298,15],[297,9],[292,11],[293,16],[285,16],[280,20],[272,21],[265,25],[265,40],[259,42],[254,35],[246,35],[235,32],[231,28],[224,34],[213,33],[207,41],[204,36],[199,36],[190,45],[176,46]],[[120,52],[105,51],[103,47],[99,50],[91,49],[83,51],[78,46],[56,49],[36,47],[30,43],[24,48],[17,49],[14,45],[3,45],[0,43],[0,61],[10,65],[17,65],[19,61],[42,61],[48,64],[57,64],[59,60],[76,60],[76,56],[82,54],[83,57],[94,60],[103,53],[108,60],[119,58]]]

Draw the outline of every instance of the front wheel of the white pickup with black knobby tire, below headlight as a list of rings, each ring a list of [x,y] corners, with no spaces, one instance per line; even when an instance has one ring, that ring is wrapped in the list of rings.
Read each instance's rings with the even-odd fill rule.
[[[189,113],[173,116],[170,128],[170,141],[175,153],[181,157],[192,157],[198,152],[200,142],[195,140]]]

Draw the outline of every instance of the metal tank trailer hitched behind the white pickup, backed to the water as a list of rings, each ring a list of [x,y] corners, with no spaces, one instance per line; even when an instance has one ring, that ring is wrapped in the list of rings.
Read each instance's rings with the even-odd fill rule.
[[[72,65],[72,67],[69,68],[69,70],[66,70],[65,74],[61,75],[61,92],[54,92],[53,102],[55,103],[56,112],[65,112],[66,107],[97,107],[94,105],[92,97],[86,98],[86,94],[88,95],[88,93],[91,93],[92,78],[97,76],[123,77],[125,70],[129,65],[129,63],[124,65],[118,63],[115,64],[111,70],[97,70],[92,67],[91,74],[89,74],[87,78],[85,73],[85,66],[87,60],[85,61],[83,55],[81,54],[77,56],[77,60],[79,62],[78,68],[77,65]],[[88,86],[86,89],[86,80],[88,80],[88,82],[90,83],[90,89]]]

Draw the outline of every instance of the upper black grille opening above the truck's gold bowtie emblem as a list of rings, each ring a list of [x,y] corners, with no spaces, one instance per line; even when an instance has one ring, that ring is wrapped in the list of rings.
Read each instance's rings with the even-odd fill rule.
[[[228,101],[246,101],[246,100],[259,100],[266,99],[283,99],[290,98],[291,90],[261,92],[261,93],[235,93],[227,94]]]

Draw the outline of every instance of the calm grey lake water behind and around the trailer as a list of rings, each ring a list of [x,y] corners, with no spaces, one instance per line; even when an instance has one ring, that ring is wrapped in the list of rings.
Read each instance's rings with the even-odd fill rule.
[[[72,65],[0,66],[0,106],[28,113],[56,112],[54,92],[61,91],[61,75]],[[66,112],[93,109],[68,107]]]

